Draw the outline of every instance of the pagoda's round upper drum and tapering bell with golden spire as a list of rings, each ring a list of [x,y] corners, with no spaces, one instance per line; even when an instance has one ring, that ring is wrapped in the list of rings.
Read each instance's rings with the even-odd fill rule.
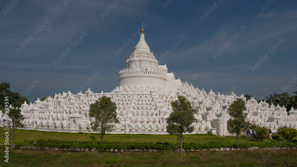
[[[144,39],[143,25],[140,29],[140,39],[133,53],[125,62],[125,69],[119,72],[118,86],[149,85],[151,88],[169,88],[176,92],[176,85],[181,85],[180,80],[175,80],[173,73],[168,74],[166,64],[159,65],[149,46]]]

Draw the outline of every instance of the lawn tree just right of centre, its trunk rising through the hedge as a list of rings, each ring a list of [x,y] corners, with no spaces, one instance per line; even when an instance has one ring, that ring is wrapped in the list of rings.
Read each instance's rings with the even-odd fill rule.
[[[186,100],[184,96],[178,96],[178,100],[172,101],[172,112],[169,117],[166,118],[167,126],[166,131],[170,135],[176,135],[180,142],[180,152],[182,151],[182,141],[184,140],[183,133],[192,133],[194,126],[192,123],[196,122],[196,118],[193,116],[195,110],[191,106],[191,103]]]

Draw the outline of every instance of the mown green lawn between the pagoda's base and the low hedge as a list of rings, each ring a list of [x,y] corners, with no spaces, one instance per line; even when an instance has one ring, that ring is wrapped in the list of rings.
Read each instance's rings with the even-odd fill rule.
[[[4,128],[0,128],[0,134],[4,134]],[[11,131],[10,131],[11,134]],[[15,130],[14,141],[23,141],[24,139],[57,139],[57,140],[80,140],[80,141],[91,141],[89,136],[96,136],[97,141],[100,140],[99,134],[94,133],[66,133],[66,132],[42,132],[35,130]],[[139,135],[131,135],[131,134],[106,134],[105,141],[120,141],[120,142],[169,142],[176,143],[176,136],[170,135],[147,135],[147,134],[139,134]],[[4,142],[4,135],[0,137],[0,142]],[[185,135],[184,142],[190,143],[201,143],[206,144],[208,142],[236,142],[235,137],[220,137],[208,134],[192,134]],[[239,138],[238,142],[255,142],[253,140]]]

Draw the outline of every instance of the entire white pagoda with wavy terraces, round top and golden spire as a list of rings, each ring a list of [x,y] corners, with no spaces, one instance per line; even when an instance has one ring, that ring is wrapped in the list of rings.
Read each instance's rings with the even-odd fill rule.
[[[119,123],[111,133],[147,133],[167,134],[166,118],[172,112],[171,102],[177,96],[185,96],[196,110],[194,114],[197,122],[193,123],[193,133],[211,133],[219,136],[229,134],[227,121],[230,116],[227,109],[236,98],[246,101],[241,94],[236,96],[215,94],[210,90],[200,90],[197,87],[175,79],[172,73],[167,73],[166,64],[159,65],[144,39],[144,28],[141,27],[140,39],[133,53],[125,62],[125,69],[121,69],[118,87],[110,93],[93,93],[90,88],[77,95],[70,91],[56,94],[54,98],[34,104],[26,102],[21,106],[25,117],[25,129],[39,131],[60,132],[90,132],[89,106],[102,96],[108,96],[117,105]],[[266,102],[252,98],[246,101],[248,122],[271,128],[272,131],[287,125],[297,128],[297,111],[293,108],[289,114],[283,106],[269,107]],[[0,125],[3,126],[3,114],[0,112]]]

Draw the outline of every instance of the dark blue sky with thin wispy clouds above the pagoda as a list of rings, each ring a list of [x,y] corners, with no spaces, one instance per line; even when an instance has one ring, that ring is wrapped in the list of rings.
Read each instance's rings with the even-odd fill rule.
[[[29,101],[68,90],[76,93],[81,86],[94,93],[112,91],[119,70],[139,40],[133,32],[141,27],[142,18],[147,44],[176,79],[190,81],[206,92],[231,90],[263,99],[278,92],[293,95],[297,90],[293,79],[297,75],[296,1],[64,2],[0,2],[0,82],[11,83],[12,90]],[[180,35],[186,37],[183,42],[177,42]],[[124,42],[129,45],[116,56],[114,51]],[[173,43],[179,44],[174,50]],[[273,53],[271,46],[277,47]],[[68,48],[71,52],[55,64]],[[160,59],[167,50],[170,54]],[[214,56],[218,50],[222,54]],[[260,57],[265,61],[261,63]],[[252,70],[255,61],[260,65]],[[97,76],[94,71],[98,77],[92,77]]]

